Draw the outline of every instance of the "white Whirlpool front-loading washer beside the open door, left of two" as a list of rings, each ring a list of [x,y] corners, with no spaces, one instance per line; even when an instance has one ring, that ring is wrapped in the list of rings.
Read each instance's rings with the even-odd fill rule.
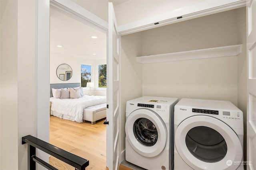
[[[125,146],[128,162],[148,170],[173,168],[171,127],[177,102],[178,98],[144,96],[126,103]]]

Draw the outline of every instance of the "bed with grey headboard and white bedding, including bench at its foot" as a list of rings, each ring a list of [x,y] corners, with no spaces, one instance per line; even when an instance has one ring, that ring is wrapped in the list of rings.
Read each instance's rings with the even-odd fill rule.
[[[50,84],[50,115],[95,124],[106,117],[106,96],[84,95],[80,83]]]

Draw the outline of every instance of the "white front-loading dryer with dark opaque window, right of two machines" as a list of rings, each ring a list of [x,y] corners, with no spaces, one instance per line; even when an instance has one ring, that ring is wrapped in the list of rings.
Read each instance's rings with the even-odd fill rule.
[[[174,109],[175,170],[243,170],[243,113],[229,101],[181,99]]]

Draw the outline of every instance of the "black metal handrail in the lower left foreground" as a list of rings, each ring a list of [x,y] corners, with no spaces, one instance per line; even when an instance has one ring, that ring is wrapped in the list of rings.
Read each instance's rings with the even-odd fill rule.
[[[22,137],[22,145],[25,143],[28,144],[28,170],[35,170],[36,162],[48,170],[57,170],[52,165],[36,157],[36,148],[54,156],[55,158],[58,158],[59,160],[62,160],[63,162],[66,162],[67,164],[70,164],[78,170],[85,170],[85,168],[89,165],[89,160],[55,147],[54,145],[51,145],[50,143],[42,141],[31,135]]]

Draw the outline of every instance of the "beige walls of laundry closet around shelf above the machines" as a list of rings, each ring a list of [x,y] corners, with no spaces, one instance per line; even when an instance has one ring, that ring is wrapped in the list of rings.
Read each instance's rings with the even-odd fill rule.
[[[207,49],[214,54],[234,45],[240,45],[237,55],[207,58]],[[205,57],[194,57],[194,50],[201,56],[206,51]],[[185,54],[182,60],[161,61],[156,56],[151,63],[137,61],[177,52]],[[244,113],[246,137],[245,7],[122,35],[121,56],[121,150],[125,150],[126,101],[140,96],[228,100]]]

